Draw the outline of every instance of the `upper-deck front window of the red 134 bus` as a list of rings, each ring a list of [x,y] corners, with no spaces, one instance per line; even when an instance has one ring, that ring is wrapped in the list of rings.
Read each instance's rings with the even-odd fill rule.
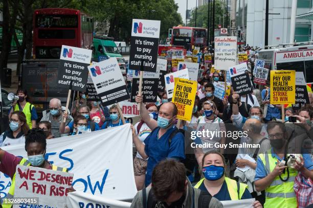
[[[77,28],[77,15],[38,14],[35,21],[36,28]]]

